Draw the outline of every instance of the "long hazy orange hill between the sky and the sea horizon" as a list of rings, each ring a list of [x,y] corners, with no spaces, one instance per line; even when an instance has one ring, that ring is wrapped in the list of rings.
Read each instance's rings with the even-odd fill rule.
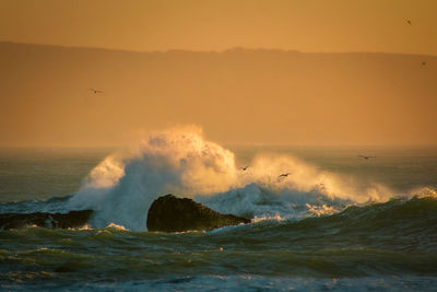
[[[0,43],[0,145],[118,144],[187,122],[221,142],[437,144],[436,109],[434,56]]]

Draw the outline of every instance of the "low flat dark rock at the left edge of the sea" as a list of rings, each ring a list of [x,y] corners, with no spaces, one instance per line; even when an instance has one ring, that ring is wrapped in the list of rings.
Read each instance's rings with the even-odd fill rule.
[[[93,210],[70,211],[62,213],[7,213],[0,214],[0,229],[24,229],[39,226],[47,229],[74,229],[85,225],[93,214]]]

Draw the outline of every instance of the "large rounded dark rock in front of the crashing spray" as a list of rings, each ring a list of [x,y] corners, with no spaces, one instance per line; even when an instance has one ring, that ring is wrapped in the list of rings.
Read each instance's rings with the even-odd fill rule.
[[[191,199],[173,195],[154,200],[147,213],[149,231],[209,231],[249,222],[246,218],[221,214]]]

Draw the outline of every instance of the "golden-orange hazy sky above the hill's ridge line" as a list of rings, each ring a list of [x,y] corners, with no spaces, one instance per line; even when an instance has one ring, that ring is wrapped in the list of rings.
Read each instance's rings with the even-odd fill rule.
[[[437,55],[437,1],[0,0],[0,40],[128,50]]]

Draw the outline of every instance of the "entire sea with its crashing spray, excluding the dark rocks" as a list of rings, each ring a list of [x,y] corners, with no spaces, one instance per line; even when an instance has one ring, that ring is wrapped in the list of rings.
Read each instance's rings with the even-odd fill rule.
[[[0,288],[436,291],[436,148],[223,147],[174,130],[123,150],[1,149],[0,215],[94,213],[2,226]],[[147,232],[166,194],[251,223]]]

